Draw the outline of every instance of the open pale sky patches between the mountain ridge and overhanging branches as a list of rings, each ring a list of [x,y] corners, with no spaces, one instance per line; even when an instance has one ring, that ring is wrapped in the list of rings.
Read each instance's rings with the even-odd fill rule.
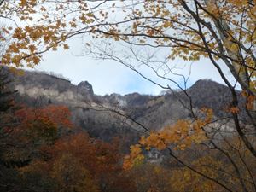
[[[139,92],[141,94],[157,95],[162,90],[159,86],[148,82],[131,69],[122,66],[116,61],[97,61],[90,56],[81,55],[82,45],[79,40],[72,40],[69,50],[59,49],[56,52],[49,52],[44,55],[36,70],[62,74],[71,80],[72,84],[79,84],[87,80],[93,86],[97,95],[119,93],[122,95]],[[189,65],[183,61],[177,62],[181,66],[180,73],[188,73]],[[147,73],[147,72],[145,72]],[[226,75],[229,75],[226,70]],[[154,79],[151,74],[149,78]],[[198,79],[212,79],[223,83],[217,70],[212,67],[210,61],[195,61],[192,64],[192,73],[188,85],[194,84]],[[178,81],[178,79],[175,79]],[[166,82],[162,82],[166,85]]]

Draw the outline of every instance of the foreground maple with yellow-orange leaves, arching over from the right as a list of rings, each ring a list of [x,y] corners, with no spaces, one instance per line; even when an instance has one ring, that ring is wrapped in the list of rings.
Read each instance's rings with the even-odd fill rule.
[[[166,90],[173,91],[170,84],[176,84],[189,101],[184,105],[191,118],[180,119],[161,131],[146,130],[147,135],[131,146],[131,154],[125,158],[125,169],[143,161],[144,147],[158,148],[167,150],[182,166],[177,169],[177,177],[184,174],[195,186],[198,180],[189,174],[209,182],[201,189],[195,187],[195,191],[255,191],[255,13],[255,0],[2,0],[1,65],[34,67],[44,52],[61,47],[68,49],[68,39],[81,37],[86,53],[98,59],[118,61]],[[180,76],[184,84],[187,82],[182,73],[173,70],[173,60],[200,61],[202,58],[207,59],[206,65],[216,67],[230,90],[232,97],[224,119],[232,120],[231,130],[223,128],[223,119],[216,119],[211,109],[193,108],[186,86],[173,79]],[[139,71],[139,66],[148,67],[168,84],[148,78]],[[235,83],[227,77],[224,67],[236,79]],[[244,98],[241,103],[237,84]],[[241,118],[241,110],[246,111],[246,119]],[[184,150],[196,151],[195,156],[184,157]],[[212,154],[207,156],[210,151]],[[67,167],[72,171],[80,165],[70,156],[58,160],[74,162],[74,167]],[[54,169],[61,172],[61,176],[65,175],[61,167]],[[84,169],[81,177],[86,174]],[[56,177],[60,183],[61,176]],[[90,177],[87,178],[90,182]],[[81,184],[81,188],[87,184]],[[90,187],[96,190],[94,185]],[[188,188],[186,183],[183,187]]]

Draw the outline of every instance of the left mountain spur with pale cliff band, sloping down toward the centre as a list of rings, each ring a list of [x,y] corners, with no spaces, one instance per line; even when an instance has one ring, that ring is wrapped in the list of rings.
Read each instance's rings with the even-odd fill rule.
[[[108,110],[112,107],[108,99],[96,96],[88,81],[74,85],[62,77],[25,71],[24,75],[15,76],[14,87],[19,93],[16,101],[28,106],[67,105],[73,123],[93,137],[108,141],[124,135],[130,137],[130,142],[137,141],[137,131],[132,131],[129,122]]]

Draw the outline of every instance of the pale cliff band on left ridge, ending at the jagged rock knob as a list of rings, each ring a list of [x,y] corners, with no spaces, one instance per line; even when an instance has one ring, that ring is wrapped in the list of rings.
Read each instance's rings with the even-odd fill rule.
[[[92,86],[87,81],[76,86],[67,79],[45,73],[26,71],[24,75],[16,77],[15,90],[18,90],[21,96],[29,96],[33,99],[44,97],[50,102],[72,106],[83,107],[84,102],[94,100]]]

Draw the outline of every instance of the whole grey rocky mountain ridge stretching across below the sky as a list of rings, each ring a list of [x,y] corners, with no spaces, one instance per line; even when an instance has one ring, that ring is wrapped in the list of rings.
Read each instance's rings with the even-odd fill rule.
[[[36,72],[25,72],[23,76],[16,77],[15,90],[20,94],[17,101],[28,105],[67,105],[78,127],[103,140],[119,135],[129,138],[131,143],[136,142],[137,131],[142,127],[134,121],[148,129],[160,130],[190,115],[187,109],[189,102],[178,90],[163,96],[138,93],[96,96],[87,81],[74,85],[62,77]],[[224,116],[224,108],[230,101],[227,87],[210,80],[196,82],[188,93],[194,108],[213,108],[217,116]],[[183,100],[183,105],[180,100]]]

